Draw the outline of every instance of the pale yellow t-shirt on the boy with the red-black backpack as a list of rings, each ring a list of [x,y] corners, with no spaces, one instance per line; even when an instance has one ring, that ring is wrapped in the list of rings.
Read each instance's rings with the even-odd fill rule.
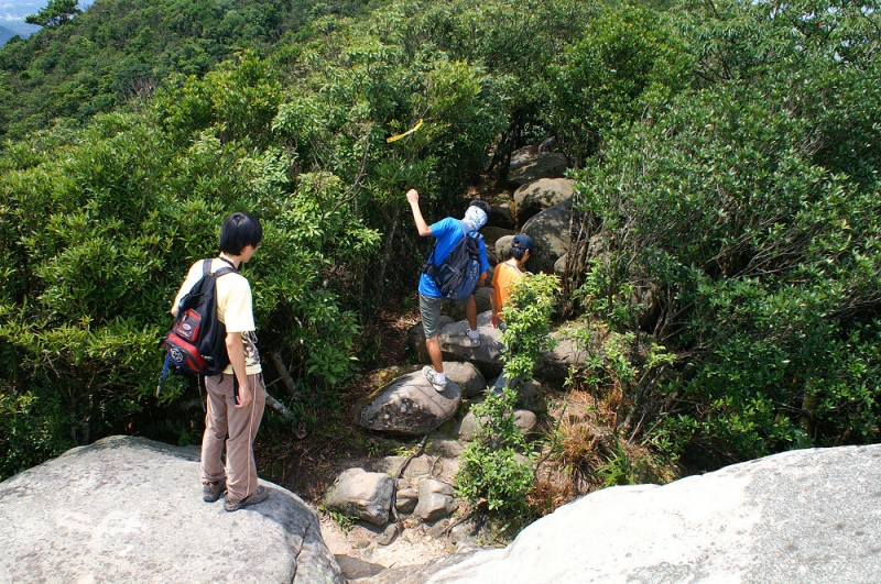
[[[193,264],[181,285],[174,306],[202,279],[202,260]],[[217,272],[229,264],[222,260],[211,260],[211,272]],[[227,332],[240,332],[244,344],[244,368],[248,375],[260,373],[260,353],[257,351],[257,327],[254,326],[253,300],[251,285],[241,274],[227,274],[217,278],[217,319],[222,322]],[[232,365],[228,365],[224,373],[232,374]]]

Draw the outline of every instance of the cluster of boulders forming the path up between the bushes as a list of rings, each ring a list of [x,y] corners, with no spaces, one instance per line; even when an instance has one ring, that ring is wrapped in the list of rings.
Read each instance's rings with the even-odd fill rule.
[[[509,180],[515,190],[493,197],[490,223],[482,230],[491,266],[508,258],[511,239],[520,231],[535,241],[530,271],[553,273],[565,260],[574,181],[561,178],[567,166],[564,154],[540,150],[527,146],[513,153]],[[480,346],[470,346],[467,321],[456,307],[450,306],[459,320],[444,317],[439,335],[448,379],[444,392],[436,392],[417,367],[377,388],[355,412],[356,422],[366,430],[414,441],[425,437],[413,447],[413,455],[349,469],[325,493],[323,504],[329,510],[388,526],[380,543],[390,542],[403,526],[449,535],[457,549],[471,549],[474,526],[452,520],[457,509],[454,481],[458,456],[479,426],[470,406],[482,400],[504,366],[501,333],[490,323],[489,291],[483,287],[475,295]],[[561,342],[540,363],[537,378],[519,389],[514,414],[526,433],[545,410],[542,384],[563,378],[576,359],[572,343],[557,335]],[[429,362],[422,323],[409,331],[409,343],[420,363]]]

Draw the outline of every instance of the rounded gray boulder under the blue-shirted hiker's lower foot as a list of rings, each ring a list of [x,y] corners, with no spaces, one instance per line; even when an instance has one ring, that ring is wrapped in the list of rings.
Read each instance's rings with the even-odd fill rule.
[[[447,379],[446,388],[436,392],[417,371],[374,392],[356,422],[369,430],[422,436],[455,416],[460,401],[461,390],[455,382]]]

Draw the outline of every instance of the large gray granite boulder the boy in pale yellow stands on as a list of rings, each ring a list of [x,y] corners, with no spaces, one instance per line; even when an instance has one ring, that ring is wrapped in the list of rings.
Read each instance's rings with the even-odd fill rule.
[[[202,500],[198,450],[128,437],[0,483],[0,583],[342,584],[293,493],[235,513]]]

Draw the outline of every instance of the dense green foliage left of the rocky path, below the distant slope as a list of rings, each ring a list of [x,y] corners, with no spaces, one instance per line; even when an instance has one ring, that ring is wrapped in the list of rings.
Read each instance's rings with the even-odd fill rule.
[[[507,128],[519,81],[491,71],[489,57],[523,48],[512,40],[524,24],[535,29],[531,42],[553,46],[550,35],[565,33],[580,13],[559,11],[555,32],[529,11],[507,15],[508,4],[390,3],[362,21],[316,7],[302,40],[279,43],[271,59],[244,52],[207,73],[210,60],[192,69],[205,75],[161,73],[162,82],[132,107],[8,142],[0,157],[0,250],[10,258],[0,360],[13,375],[1,385],[10,415],[0,423],[10,438],[0,445],[0,472],[108,432],[145,431],[141,416],[152,407],[168,302],[191,262],[214,252],[222,217],[237,209],[257,213],[267,233],[248,268],[260,349],[282,356],[306,409],[333,407],[356,345],[369,344],[359,326],[370,324],[384,282],[410,280],[421,260],[414,235],[398,229],[405,187],[426,192],[428,209],[460,205],[464,183]],[[45,48],[19,44],[2,56],[33,51],[23,60],[33,64],[55,59],[55,51],[68,55],[65,43],[86,42],[89,22],[98,36],[117,30],[118,19],[87,20],[111,8],[119,9],[98,4],[59,27],[65,42],[43,31]],[[490,15],[498,20],[491,42],[475,32]],[[127,30],[164,25],[131,21]],[[460,29],[472,31],[465,45],[454,34]],[[217,46],[219,59],[229,47]],[[526,60],[500,63],[516,69],[512,62]],[[34,87],[50,89],[44,81]],[[53,91],[83,106],[68,89]],[[53,108],[46,100],[40,114],[67,115]],[[385,142],[418,119],[418,132]],[[379,232],[384,254],[377,253]],[[184,390],[172,382],[165,400]],[[40,432],[26,431],[29,423]]]

